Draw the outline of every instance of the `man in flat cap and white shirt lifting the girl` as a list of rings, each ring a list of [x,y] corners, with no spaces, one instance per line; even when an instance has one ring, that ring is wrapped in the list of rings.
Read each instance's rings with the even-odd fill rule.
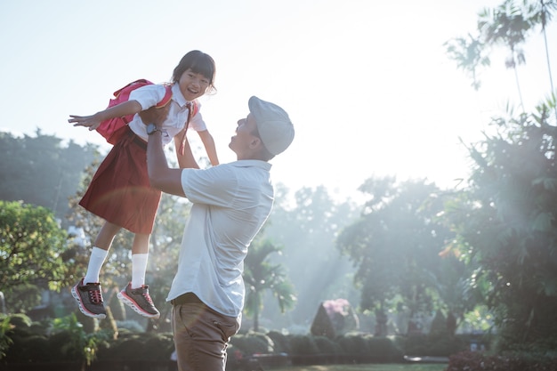
[[[180,371],[225,368],[226,348],[238,332],[244,307],[244,258],[273,203],[268,161],[294,139],[294,126],[284,109],[257,97],[249,99],[248,107],[249,114],[238,120],[230,139],[237,161],[208,169],[198,168],[189,143],[184,152],[188,168],[169,168],[161,141],[164,133],[148,125],[151,186],[193,204],[167,297],[174,306]]]

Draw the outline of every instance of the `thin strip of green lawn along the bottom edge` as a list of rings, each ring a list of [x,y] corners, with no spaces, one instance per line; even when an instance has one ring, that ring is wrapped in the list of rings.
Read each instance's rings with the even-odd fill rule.
[[[320,365],[272,368],[272,371],[443,371],[446,364],[371,364],[371,365]]]

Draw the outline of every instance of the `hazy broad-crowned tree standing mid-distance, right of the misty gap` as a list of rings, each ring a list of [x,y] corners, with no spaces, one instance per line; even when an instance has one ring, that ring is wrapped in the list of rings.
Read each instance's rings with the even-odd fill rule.
[[[375,311],[375,335],[386,335],[387,310],[406,307],[412,318],[432,311],[439,253],[452,234],[435,217],[442,210],[434,184],[392,177],[368,179],[370,197],[357,222],[346,227],[337,247],[357,267],[362,310]]]

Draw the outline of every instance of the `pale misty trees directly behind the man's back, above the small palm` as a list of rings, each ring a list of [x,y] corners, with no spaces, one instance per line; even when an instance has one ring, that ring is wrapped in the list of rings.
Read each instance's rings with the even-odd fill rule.
[[[282,248],[281,254],[270,255],[269,262],[284,267],[296,296],[303,300],[284,316],[274,304],[276,299],[266,296],[262,319],[272,319],[274,328],[307,327],[325,299],[343,297],[357,302],[351,264],[335,249],[336,235],[355,218],[356,208],[350,200],[335,202],[323,186],[302,188],[294,195],[281,184],[276,189],[264,236],[273,244],[279,241]]]

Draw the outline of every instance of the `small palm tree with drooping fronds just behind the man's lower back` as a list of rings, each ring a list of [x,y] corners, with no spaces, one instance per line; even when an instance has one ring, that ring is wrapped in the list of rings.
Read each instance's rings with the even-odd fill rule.
[[[260,232],[261,233],[261,232]],[[277,299],[280,311],[291,309],[296,301],[294,287],[287,279],[281,264],[267,262],[272,253],[280,253],[281,248],[268,239],[256,238],[249,247],[244,261],[244,282],[246,284],[246,305],[244,311],[254,318],[254,331],[259,331],[259,315],[263,308],[263,294],[270,291]]]

